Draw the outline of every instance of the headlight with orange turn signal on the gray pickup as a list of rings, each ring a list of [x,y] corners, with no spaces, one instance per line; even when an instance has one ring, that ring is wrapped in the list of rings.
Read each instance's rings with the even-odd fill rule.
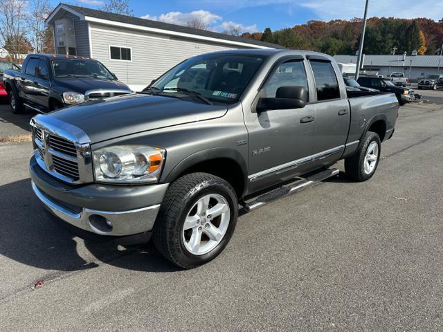
[[[96,181],[154,183],[160,178],[165,150],[144,145],[116,145],[93,152]]]

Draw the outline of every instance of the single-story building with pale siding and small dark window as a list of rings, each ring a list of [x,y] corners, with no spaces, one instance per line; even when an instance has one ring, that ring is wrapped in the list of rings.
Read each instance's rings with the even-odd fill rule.
[[[98,59],[135,91],[194,55],[232,48],[281,48],[253,39],[64,3],[53,10],[46,25],[54,28],[57,54]]]

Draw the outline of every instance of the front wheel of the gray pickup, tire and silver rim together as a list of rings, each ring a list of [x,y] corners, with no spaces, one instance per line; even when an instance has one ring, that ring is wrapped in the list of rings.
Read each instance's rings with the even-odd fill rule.
[[[235,230],[237,196],[222,178],[192,173],[174,181],[154,226],[154,244],[181,268],[195,268],[224,250]]]

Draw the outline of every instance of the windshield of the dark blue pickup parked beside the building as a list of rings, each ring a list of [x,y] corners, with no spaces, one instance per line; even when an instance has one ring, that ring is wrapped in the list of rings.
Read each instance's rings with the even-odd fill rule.
[[[98,77],[115,80],[105,66],[94,60],[55,59],[51,60],[54,76],[62,77]]]

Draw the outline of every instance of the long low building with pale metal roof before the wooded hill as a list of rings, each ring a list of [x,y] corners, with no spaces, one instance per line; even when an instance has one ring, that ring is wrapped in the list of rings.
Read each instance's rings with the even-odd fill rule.
[[[335,55],[336,62],[356,64],[356,55]],[[390,73],[405,73],[410,80],[429,74],[443,74],[443,57],[440,55],[365,55],[362,66],[366,74],[388,76]]]

